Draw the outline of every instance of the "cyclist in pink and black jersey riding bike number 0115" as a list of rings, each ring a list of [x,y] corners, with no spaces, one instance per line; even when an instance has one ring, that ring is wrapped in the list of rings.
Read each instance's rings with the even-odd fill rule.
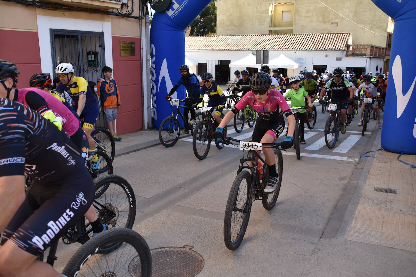
[[[282,93],[270,88],[272,78],[266,72],[258,72],[250,79],[250,88],[235,107],[230,110],[221,121],[220,125],[215,129],[214,138],[221,141],[224,136],[224,127],[234,117],[238,111],[242,110],[246,105],[250,105],[258,113],[258,120],[254,127],[252,142],[272,143],[283,132],[285,128],[285,120],[283,114],[288,120],[287,137],[281,143],[283,149],[292,147],[293,132],[295,130],[295,116],[292,114],[289,105]],[[264,191],[271,193],[275,191],[276,184],[279,182],[279,175],[276,172],[275,154],[271,148],[262,147],[267,167],[269,169],[269,180]]]

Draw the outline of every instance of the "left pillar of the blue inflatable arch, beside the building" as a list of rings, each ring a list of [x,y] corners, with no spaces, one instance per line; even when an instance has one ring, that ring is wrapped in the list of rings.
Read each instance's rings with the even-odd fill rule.
[[[151,91],[154,127],[172,114],[170,103],[165,101],[171,88],[181,78],[179,66],[185,64],[185,29],[202,12],[211,0],[172,0],[166,12],[156,12],[150,30]],[[185,98],[181,86],[173,98]]]

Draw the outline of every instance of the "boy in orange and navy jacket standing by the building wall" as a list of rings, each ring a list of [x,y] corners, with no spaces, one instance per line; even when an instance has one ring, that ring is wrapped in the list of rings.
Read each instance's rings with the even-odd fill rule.
[[[115,133],[117,109],[120,108],[120,93],[117,89],[116,81],[111,78],[113,69],[104,66],[102,69],[104,77],[98,80],[97,94],[101,101],[101,107],[104,110],[108,130],[114,138],[114,141],[120,141],[121,137]]]

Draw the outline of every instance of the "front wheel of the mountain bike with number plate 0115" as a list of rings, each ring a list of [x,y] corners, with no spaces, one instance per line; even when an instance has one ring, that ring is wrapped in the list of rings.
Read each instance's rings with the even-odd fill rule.
[[[235,250],[240,246],[247,229],[253,197],[250,186],[251,174],[243,170],[235,177],[228,195],[224,215],[224,243],[230,250]]]

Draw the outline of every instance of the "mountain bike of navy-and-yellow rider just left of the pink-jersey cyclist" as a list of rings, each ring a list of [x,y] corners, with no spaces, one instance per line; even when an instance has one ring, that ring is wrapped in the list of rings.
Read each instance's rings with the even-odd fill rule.
[[[192,148],[193,154],[198,159],[205,159],[208,155],[211,139],[213,137],[213,133],[215,128],[218,127],[218,122],[212,115],[213,110],[217,107],[203,107],[200,108],[201,112],[205,113],[205,117],[203,120],[196,124],[195,130],[193,132],[192,137]],[[220,118],[223,118],[224,114],[220,115]],[[227,132],[227,127],[225,126],[225,132]],[[218,149],[224,147],[224,142],[217,142],[215,141],[215,146]]]

